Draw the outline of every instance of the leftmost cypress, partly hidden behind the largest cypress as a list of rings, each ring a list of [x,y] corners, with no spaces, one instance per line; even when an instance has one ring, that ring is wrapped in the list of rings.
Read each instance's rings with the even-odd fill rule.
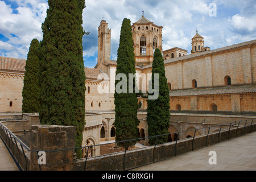
[[[33,39],[27,54],[22,90],[22,113],[39,113],[39,41]]]

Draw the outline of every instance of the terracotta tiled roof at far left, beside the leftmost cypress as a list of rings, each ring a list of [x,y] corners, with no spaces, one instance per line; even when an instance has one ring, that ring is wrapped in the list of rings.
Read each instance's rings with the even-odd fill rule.
[[[0,56],[0,70],[11,72],[25,72],[26,60]]]

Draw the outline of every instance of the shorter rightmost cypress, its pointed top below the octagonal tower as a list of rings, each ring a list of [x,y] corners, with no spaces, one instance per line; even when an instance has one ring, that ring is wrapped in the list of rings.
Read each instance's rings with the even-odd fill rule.
[[[168,134],[168,128],[170,127],[169,89],[166,71],[164,69],[164,60],[162,53],[158,48],[155,50],[152,65],[152,78],[150,81],[152,88],[155,86],[155,73],[159,74],[159,96],[156,100],[147,100],[148,137]],[[156,138],[150,138],[149,143],[155,144],[155,139]],[[167,142],[167,135],[164,137],[158,137],[158,144],[165,142]]]

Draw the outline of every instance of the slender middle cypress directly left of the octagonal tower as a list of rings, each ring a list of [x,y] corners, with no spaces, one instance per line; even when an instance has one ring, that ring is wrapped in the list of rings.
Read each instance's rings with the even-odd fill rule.
[[[117,71],[116,76],[119,73],[125,75],[125,78],[115,80],[115,140],[120,142],[123,140],[130,140],[137,138],[137,127],[139,120],[137,118],[138,99],[135,93],[135,78],[130,86],[133,86],[133,93],[129,93],[129,73],[135,74],[135,58],[133,48],[133,34],[131,32],[130,19],[123,19],[121,27],[121,35],[119,48],[117,52]],[[120,87],[118,85],[123,82]],[[117,89],[122,89],[121,93],[118,93]],[[123,148],[129,148],[133,146],[136,141],[127,143],[118,143],[118,146]]]

